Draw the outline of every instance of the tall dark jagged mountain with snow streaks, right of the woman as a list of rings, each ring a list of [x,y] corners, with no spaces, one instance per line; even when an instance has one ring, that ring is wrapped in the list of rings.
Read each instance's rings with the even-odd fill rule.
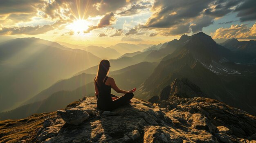
[[[188,37],[187,37],[188,38]],[[197,85],[204,97],[256,114],[256,66],[236,64],[232,52],[214,42],[210,36],[197,33],[184,46],[162,59],[152,75],[138,88],[138,98],[150,99],[175,79],[187,78]]]

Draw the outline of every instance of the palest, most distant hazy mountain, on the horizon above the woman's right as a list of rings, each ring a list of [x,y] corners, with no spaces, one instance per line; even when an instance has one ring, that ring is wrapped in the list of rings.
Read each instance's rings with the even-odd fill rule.
[[[115,49],[117,52],[121,54],[125,53],[134,53],[137,51],[142,51],[144,48],[148,48],[147,44],[128,44],[128,43],[118,43],[116,45],[110,46],[110,48]]]

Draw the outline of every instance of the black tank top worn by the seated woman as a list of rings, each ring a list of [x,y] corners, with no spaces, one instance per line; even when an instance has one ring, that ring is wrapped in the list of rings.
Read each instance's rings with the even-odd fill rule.
[[[106,81],[108,79],[108,76],[106,76],[104,82],[101,84],[101,86],[99,86],[99,84],[97,84],[97,82],[95,81],[95,84],[98,88],[99,91],[99,97],[97,100],[97,105],[102,102],[106,103],[110,103],[112,102],[112,98],[111,98],[111,86],[106,85]]]

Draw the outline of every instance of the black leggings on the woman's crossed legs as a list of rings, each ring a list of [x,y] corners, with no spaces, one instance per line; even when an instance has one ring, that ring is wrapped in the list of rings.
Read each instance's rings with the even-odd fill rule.
[[[102,110],[114,110],[116,108],[119,108],[120,106],[128,104],[129,100],[132,99],[133,96],[134,96],[133,93],[126,93],[125,95],[123,95],[121,97],[111,94],[111,97],[118,97],[118,98],[109,104],[101,103],[101,104],[104,104],[103,106],[106,107],[106,108],[101,107],[101,109]]]

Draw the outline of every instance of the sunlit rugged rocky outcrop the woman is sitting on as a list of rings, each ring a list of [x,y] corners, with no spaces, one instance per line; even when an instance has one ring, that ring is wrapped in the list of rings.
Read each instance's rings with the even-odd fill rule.
[[[87,120],[76,126],[56,117],[36,140],[43,143],[249,143],[256,133],[256,117],[216,100],[175,96],[169,101],[166,109],[132,99],[131,105],[103,112],[97,109],[95,97],[86,97],[69,108],[87,110],[90,113]]]

